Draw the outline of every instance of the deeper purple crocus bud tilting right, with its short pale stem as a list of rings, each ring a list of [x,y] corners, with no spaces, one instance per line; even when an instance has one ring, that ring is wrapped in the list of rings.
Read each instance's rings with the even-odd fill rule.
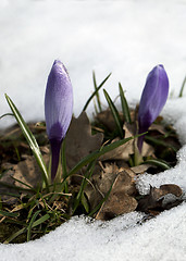
[[[148,75],[139,102],[138,133],[145,133],[160,114],[169,94],[169,79],[163,65],[157,65]],[[144,136],[138,138],[141,151]]]

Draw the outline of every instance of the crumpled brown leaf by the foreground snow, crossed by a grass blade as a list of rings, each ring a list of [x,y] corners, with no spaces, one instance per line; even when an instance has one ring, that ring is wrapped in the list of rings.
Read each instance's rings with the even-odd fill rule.
[[[128,213],[136,209],[137,201],[133,197],[136,194],[135,173],[131,169],[119,167],[116,164],[106,163],[94,174],[91,183],[85,192],[90,203],[90,209],[95,209],[112,186],[108,200],[101,207],[96,219],[109,220],[115,215]]]

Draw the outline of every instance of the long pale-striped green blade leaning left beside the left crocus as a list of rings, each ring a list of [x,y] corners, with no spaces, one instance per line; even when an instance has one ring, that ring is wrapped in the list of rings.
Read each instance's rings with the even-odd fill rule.
[[[21,113],[18,112],[17,108],[15,107],[15,104],[13,103],[13,101],[10,99],[10,97],[8,95],[5,95],[5,99],[33,151],[33,154],[41,170],[42,173],[42,181],[46,185],[46,187],[48,187],[48,172],[47,172],[47,167],[46,164],[44,162],[39,146],[34,137],[34,135],[32,134],[30,129],[28,128],[27,124],[25,123],[25,121],[23,120]]]

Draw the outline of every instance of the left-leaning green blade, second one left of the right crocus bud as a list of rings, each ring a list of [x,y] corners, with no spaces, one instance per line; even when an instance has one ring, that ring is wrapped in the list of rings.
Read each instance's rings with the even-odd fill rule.
[[[103,89],[103,92],[104,92],[106,99],[108,101],[109,108],[112,112],[113,119],[115,121],[120,137],[123,138],[123,123],[120,119],[119,111],[117,111],[116,107],[114,105],[113,101],[111,100],[109,94],[106,91],[106,89]]]

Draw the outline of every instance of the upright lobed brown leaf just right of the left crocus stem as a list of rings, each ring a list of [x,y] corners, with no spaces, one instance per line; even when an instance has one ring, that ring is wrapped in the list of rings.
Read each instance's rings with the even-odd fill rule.
[[[91,135],[91,125],[85,112],[75,119],[73,117],[66,135],[66,165],[71,170],[84,157],[100,149],[103,135]]]

